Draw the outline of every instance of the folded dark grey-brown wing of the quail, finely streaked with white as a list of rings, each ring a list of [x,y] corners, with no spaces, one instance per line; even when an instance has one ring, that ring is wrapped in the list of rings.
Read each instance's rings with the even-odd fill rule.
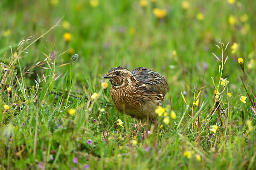
[[[161,74],[145,67],[134,68],[131,73],[138,79],[140,85],[157,94],[165,95],[169,91],[166,78]]]

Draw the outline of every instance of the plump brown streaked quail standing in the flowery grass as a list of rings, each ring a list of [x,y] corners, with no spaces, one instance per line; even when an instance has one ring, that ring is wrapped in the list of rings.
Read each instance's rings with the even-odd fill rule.
[[[169,91],[166,78],[150,68],[130,71],[121,66],[111,68],[102,78],[111,82],[110,96],[116,110],[138,120],[146,119],[153,131],[157,123],[155,109]]]

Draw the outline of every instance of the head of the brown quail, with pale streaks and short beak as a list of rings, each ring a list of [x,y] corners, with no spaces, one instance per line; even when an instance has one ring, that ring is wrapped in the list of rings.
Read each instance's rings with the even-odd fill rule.
[[[102,78],[108,79],[114,88],[132,85],[134,82],[137,82],[131,71],[122,67],[111,68]]]

